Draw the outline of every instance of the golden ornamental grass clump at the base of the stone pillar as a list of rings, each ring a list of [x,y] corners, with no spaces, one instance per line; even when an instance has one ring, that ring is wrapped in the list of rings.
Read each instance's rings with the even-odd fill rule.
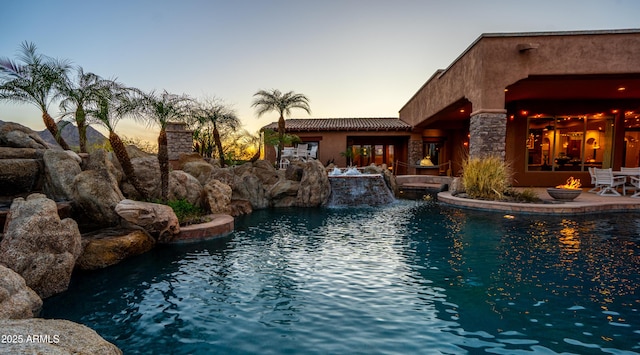
[[[462,164],[462,182],[471,198],[502,200],[511,178],[509,164],[497,156],[469,158]]]

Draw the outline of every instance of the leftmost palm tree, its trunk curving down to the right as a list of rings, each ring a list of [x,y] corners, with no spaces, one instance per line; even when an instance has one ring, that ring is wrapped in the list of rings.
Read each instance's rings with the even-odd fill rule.
[[[0,59],[0,100],[30,103],[42,111],[45,127],[51,132],[62,149],[69,145],[58,134],[58,126],[48,112],[49,104],[56,99],[56,84],[65,77],[70,65],[37,53],[36,45],[23,42],[17,63],[9,58]]]

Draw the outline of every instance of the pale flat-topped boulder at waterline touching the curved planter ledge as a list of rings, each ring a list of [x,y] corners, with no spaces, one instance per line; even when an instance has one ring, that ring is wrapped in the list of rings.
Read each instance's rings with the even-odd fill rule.
[[[170,242],[180,233],[178,217],[167,205],[122,200],[116,205],[115,210],[120,217],[144,228],[161,243]]]

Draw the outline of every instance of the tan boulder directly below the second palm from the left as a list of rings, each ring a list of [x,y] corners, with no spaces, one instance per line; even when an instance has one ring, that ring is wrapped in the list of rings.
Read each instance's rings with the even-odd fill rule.
[[[44,193],[49,198],[71,200],[73,198],[73,180],[80,174],[82,159],[72,152],[49,149],[42,157],[44,162]]]

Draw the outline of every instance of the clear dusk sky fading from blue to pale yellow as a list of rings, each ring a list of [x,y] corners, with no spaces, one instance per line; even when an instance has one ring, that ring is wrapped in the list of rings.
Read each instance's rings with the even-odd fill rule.
[[[1,57],[28,41],[145,91],[214,96],[252,133],[278,119],[256,117],[260,89],[307,95],[311,116],[292,117],[398,117],[482,33],[640,27],[637,0],[24,0],[2,13]],[[0,102],[0,120],[44,129],[32,105]],[[157,137],[127,121],[116,131]]]

